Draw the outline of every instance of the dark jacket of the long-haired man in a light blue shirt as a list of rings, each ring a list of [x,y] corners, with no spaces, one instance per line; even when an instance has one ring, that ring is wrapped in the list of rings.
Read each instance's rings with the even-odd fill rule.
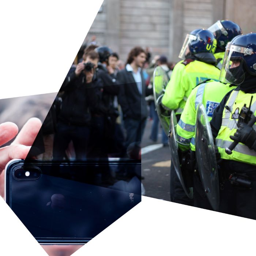
[[[152,90],[147,89],[142,71],[140,75],[142,78],[142,94],[139,93],[132,72],[124,68],[117,73],[117,80],[120,83],[118,102],[121,105],[124,119],[128,117],[140,120],[147,117],[145,97],[152,94]]]

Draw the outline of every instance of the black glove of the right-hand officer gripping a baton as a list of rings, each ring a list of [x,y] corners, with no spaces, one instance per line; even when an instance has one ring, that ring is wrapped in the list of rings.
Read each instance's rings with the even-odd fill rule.
[[[237,128],[237,131],[234,133],[234,136],[229,136],[231,140],[236,142],[241,142],[245,144],[250,149],[256,151],[256,131],[248,126],[246,123],[241,123]]]

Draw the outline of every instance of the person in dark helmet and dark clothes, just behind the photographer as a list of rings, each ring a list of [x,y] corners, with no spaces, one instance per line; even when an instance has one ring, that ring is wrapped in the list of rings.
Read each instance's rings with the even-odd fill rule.
[[[108,46],[100,46],[94,50],[99,54],[96,77],[98,84],[99,101],[92,111],[91,142],[89,157],[108,158],[109,154],[116,153],[115,124],[119,113],[114,106],[114,97],[119,93],[119,84],[114,70],[108,60],[112,50]]]

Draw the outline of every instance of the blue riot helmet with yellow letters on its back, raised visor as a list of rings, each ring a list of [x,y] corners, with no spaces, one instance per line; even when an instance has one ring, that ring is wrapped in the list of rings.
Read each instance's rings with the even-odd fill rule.
[[[216,39],[211,31],[206,29],[195,29],[187,34],[180,50],[179,58],[185,59],[190,54],[214,53],[216,50]]]

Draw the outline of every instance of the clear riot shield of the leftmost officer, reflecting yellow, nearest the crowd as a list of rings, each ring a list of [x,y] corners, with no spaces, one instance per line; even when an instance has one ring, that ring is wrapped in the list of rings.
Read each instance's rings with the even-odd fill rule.
[[[161,99],[165,93],[165,87],[169,80],[170,79],[168,78],[166,72],[160,66],[155,68],[153,74],[155,108],[157,110],[160,123],[167,136],[169,134],[170,113],[162,108]]]

